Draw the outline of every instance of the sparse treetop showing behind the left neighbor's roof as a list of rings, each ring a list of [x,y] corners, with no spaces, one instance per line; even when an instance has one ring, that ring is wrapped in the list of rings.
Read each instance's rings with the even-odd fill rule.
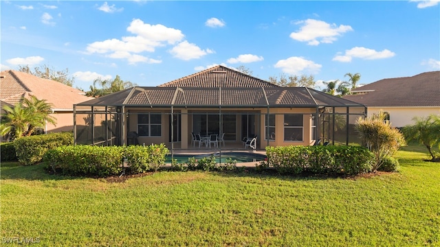
[[[53,67],[47,67],[47,65],[42,65],[41,67],[35,67],[34,71],[30,69],[29,65],[19,66],[19,71],[24,73],[30,73],[31,75],[35,75],[36,77],[54,80],[56,82],[61,82],[67,86],[73,86],[75,82],[75,78],[69,78],[69,69],[65,71],[56,71]]]

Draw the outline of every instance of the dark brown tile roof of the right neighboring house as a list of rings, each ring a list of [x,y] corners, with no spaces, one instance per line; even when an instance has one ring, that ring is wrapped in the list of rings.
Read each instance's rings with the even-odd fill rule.
[[[389,78],[361,86],[344,99],[366,106],[440,106],[440,71]],[[364,93],[362,93],[364,91]]]

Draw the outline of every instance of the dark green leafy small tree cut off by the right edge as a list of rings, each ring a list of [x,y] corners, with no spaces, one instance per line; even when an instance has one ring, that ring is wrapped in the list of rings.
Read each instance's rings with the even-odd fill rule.
[[[415,117],[412,120],[415,124],[403,128],[406,139],[424,145],[428,149],[431,161],[440,161],[440,154],[432,150],[436,143],[439,144],[440,149],[440,115]]]

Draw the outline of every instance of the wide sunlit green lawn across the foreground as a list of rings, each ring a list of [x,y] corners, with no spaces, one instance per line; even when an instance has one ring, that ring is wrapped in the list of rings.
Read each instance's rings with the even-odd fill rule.
[[[416,151],[416,152],[415,152]],[[124,183],[1,164],[1,237],[43,246],[440,246],[440,164],[315,178],[157,172]]]

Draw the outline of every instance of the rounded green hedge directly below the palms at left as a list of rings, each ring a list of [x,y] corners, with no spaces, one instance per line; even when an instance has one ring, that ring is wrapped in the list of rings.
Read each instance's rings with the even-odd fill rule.
[[[63,132],[21,137],[14,141],[14,148],[21,165],[34,165],[43,159],[47,150],[72,144],[74,144],[74,134]]]

